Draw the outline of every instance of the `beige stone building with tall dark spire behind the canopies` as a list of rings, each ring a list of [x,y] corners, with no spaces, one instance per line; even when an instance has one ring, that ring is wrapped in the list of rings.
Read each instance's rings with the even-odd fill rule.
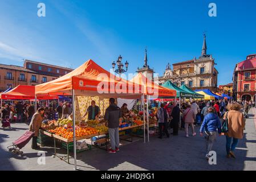
[[[185,84],[193,90],[216,90],[218,71],[214,67],[216,63],[212,55],[207,55],[206,50],[206,36],[204,35],[201,56],[198,59],[195,57],[192,60],[175,63],[173,64],[173,69],[170,68],[168,63],[164,76],[159,77],[159,84],[164,84],[165,81],[170,80],[178,86]]]

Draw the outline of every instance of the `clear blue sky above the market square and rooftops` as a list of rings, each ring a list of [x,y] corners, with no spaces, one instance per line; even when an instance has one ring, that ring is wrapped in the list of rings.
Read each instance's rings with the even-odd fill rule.
[[[46,17],[37,5],[46,5]],[[217,5],[217,17],[208,5]],[[129,72],[149,65],[160,76],[166,64],[199,57],[207,31],[218,84],[231,82],[234,65],[256,53],[256,1],[0,1],[0,63],[22,59],[76,68],[88,59],[109,70],[119,55]]]

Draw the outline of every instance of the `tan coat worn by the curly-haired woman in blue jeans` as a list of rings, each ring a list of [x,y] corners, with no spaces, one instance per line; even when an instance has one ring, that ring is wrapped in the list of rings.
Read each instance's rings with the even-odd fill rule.
[[[245,118],[241,111],[230,110],[225,113],[224,119],[228,119],[227,127],[229,131],[225,133],[228,137],[233,137],[237,139],[243,138],[243,129],[245,128]]]

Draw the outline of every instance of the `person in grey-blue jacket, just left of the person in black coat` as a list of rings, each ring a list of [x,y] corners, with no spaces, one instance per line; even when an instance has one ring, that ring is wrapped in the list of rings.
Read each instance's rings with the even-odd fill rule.
[[[159,110],[157,110],[157,118],[158,118],[158,122],[159,122],[159,138],[162,139],[162,131],[164,131],[164,133],[166,134],[166,136],[169,138],[170,135],[168,133],[167,130],[167,121],[169,118],[169,115],[167,114],[167,110],[164,109],[164,104],[160,105]]]

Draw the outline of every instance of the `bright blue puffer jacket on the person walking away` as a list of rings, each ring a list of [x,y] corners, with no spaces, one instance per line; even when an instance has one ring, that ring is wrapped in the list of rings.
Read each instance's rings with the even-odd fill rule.
[[[203,131],[217,131],[221,134],[221,121],[218,118],[217,114],[209,113],[205,116],[204,121],[202,122],[200,132]]]

